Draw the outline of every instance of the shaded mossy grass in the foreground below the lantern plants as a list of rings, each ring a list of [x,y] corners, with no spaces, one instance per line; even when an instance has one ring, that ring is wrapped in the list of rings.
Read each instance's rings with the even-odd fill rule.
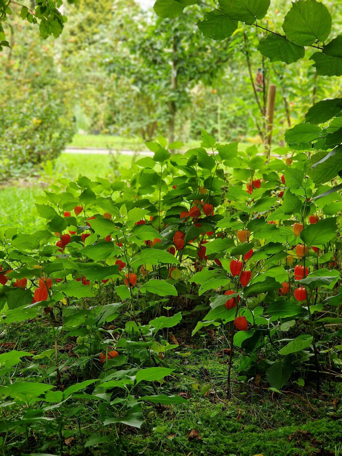
[[[138,456],[140,454],[159,455],[162,453],[173,456],[184,456],[192,452],[193,455],[217,456],[313,456],[335,455],[341,449],[341,411],[337,410],[332,401],[340,397],[342,383],[332,383],[329,390],[324,384],[323,391],[317,395],[306,379],[305,388],[292,385],[283,394],[273,393],[263,387],[263,383],[255,385],[253,382],[241,383],[236,380],[238,373],[238,357],[234,355],[233,364],[233,395],[227,402],[225,397],[225,383],[227,374],[226,357],[218,356],[224,346],[223,334],[216,334],[213,342],[207,338],[206,347],[201,337],[190,338],[187,334],[187,321],[185,326],[178,327],[175,337],[181,341],[179,348],[169,356],[167,363],[187,372],[187,377],[193,381],[180,378],[170,378],[166,383],[155,386],[161,393],[179,394],[182,391],[190,393],[189,403],[177,406],[159,407],[158,404],[145,403],[143,405],[144,423],[140,429],[130,427],[119,428],[119,438],[114,427],[109,436],[109,441],[99,446],[90,446],[90,453],[96,456],[109,456],[111,454],[127,454]],[[193,322],[192,322],[193,323]],[[11,325],[4,332],[1,342],[18,340],[17,350],[38,351],[51,348],[51,327],[46,318],[35,321]],[[69,358],[67,344],[75,346],[73,337],[63,334],[59,339],[60,365],[65,365],[64,375],[66,386],[82,380],[82,373],[77,363],[77,358]],[[186,346],[191,344],[192,349]],[[20,368],[21,377],[30,380],[30,377],[40,378],[53,369],[53,360],[45,358],[39,363],[32,359],[24,360]],[[94,359],[94,363],[97,363]],[[124,366],[121,367],[124,369]],[[110,373],[110,372],[109,372]],[[45,382],[53,382],[52,377],[41,378]],[[198,386],[197,386],[198,385]],[[136,394],[149,395],[150,386],[141,385]],[[205,391],[209,391],[205,394]],[[291,394],[291,391],[294,394]],[[88,391],[91,392],[91,387]],[[115,392],[114,392],[115,393]],[[118,393],[116,391],[116,393]],[[121,392],[123,393],[123,392]],[[86,441],[90,435],[100,437],[108,436],[110,427],[103,426],[101,421],[110,416],[109,407],[99,406],[96,400],[73,399],[63,408],[54,409],[53,416],[60,420],[74,407],[83,405],[86,411],[80,417],[80,428],[83,439]],[[89,410],[91,414],[89,414]],[[92,411],[93,410],[93,411]],[[16,413],[21,414],[21,407],[14,406],[6,409],[6,420],[16,418]],[[47,412],[51,413],[51,412]],[[99,416],[98,416],[99,415]],[[16,418],[18,419],[18,418]],[[57,426],[55,425],[55,428]],[[188,440],[192,430],[196,430],[199,438]],[[58,455],[81,455],[82,447],[79,437],[77,421],[71,417],[65,420],[62,430],[63,440],[73,437],[71,448],[63,445],[63,450],[58,449],[59,439],[56,430],[52,427],[49,431],[35,430],[35,438],[26,440],[24,433],[19,433],[10,439],[4,455],[19,455],[31,453],[45,453]],[[1,444],[0,444],[1,448]]]

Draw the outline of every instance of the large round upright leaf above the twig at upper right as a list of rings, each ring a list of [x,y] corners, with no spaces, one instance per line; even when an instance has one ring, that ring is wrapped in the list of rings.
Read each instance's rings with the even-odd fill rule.
[[[286,37],[296,44],[310,46],[325,41],[332,28],[332,17],[323,3],[299,0],[292,3],[283,23]]]

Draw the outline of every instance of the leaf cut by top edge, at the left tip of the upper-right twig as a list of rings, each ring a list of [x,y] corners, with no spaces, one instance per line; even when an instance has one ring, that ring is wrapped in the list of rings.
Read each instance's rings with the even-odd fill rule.
[[[270,0],[219,0],[220,10],[231,19],[248,25],[266,15],[269,3]]]

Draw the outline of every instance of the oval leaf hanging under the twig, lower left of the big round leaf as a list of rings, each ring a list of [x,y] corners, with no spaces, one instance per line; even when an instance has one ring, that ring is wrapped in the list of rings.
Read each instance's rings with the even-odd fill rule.
[[[266,38],[261,38],[258,45],[258,51],[270,62],[285,62],[287,64],[297,62],[305,55],[303,46],[292,43],[285,36],[274,35],[270,33]]]

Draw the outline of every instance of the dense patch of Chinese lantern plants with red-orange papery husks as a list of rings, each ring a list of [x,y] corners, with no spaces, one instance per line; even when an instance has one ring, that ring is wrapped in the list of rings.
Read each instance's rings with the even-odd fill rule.
[[[175,365],[183,374],[168,337],[184,311],[194,337],[221,326],[231,348],[228,395],[236,373],[259,373],[278,390],[298,369],[309,378],[326,363],[320,321],[338,301],[340,223],[328,213],[340,196],[316,189],[295,154],[290,167],[265,163],[255,146],[242,152],[206,132],[185,154],[171,155],[163,138],[148,146],[153,157],[114,183],[81,176],[39,197],[45,229],[1,236],[1,324],[48,322],[49,349],[63,334],[76,337],[73,368],[96,394],[111,394],[102,374],[117,369],[151,381]],[[68,377],[53,353],[50,380],[62,392]],[[140,380],[129,376],[122,386],[138,397]]]

